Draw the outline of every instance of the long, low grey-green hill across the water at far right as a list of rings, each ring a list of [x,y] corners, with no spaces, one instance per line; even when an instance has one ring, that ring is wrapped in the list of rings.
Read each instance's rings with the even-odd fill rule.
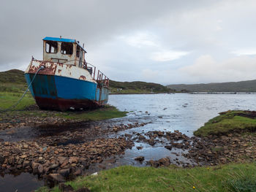
[[[167,85],[167,88],[182,92],[256,92],[256,80],[239,82],[214,82],[192,85]]]

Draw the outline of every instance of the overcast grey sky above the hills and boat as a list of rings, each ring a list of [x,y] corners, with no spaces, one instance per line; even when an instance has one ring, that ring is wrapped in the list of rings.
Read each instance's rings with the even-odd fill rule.
[[[0,72],[42,59],[42,39],[85,43],[111,80],[256,79],[255,0],[1,1]]]

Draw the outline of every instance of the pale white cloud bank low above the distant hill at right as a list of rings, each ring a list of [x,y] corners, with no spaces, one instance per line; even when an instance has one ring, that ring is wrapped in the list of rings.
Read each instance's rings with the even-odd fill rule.
[[[256,57],[239,56],[215,61],[211,55],[202,55],[195,64],[178,69],[192,82],[227,82],[256,78]]]

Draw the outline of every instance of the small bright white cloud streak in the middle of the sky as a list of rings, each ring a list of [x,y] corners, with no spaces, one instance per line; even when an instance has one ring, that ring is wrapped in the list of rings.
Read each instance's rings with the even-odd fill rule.
[[[175,59],[181,58],[184,55],[189,54],[189,52],[185,51],[173,51],[173,50],[165,50],[160,52],[152,53],[151,59],[153,61],[173,61]]]

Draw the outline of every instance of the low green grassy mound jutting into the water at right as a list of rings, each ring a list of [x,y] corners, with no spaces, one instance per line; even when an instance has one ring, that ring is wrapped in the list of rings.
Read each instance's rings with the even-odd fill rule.
[[[216,118],[209,120],[204,126],[194,132],[195,136],[227,134],[230,131],[248,131],[256,128],[256,119],[247,118],[247,111],[228,111],[221,113]]]

